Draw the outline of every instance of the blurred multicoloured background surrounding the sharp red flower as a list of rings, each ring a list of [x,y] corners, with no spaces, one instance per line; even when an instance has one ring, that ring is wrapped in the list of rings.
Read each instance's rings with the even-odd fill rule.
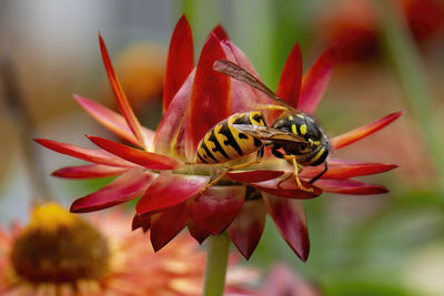
[[[349,160],[398,164],[365,178],[390,193],[307,201],[309,261],[300,263],[268,223],[245,264],[266,271],[286,262],[324,295],[444,295],[441,0],[1,1],[1,75],[16,81],[0,80],[0,223],[28,216],[30,149],[42,166],[40,181],[65,205],[109,182],[49,176],[78,162],[20,137],[23,119],[6,99],[11,83],[34,136],[88,146],[84,133],[107,132],[72,93],[115,108],[100,59],[100,30],[137,114],[155,127],[168,43],[183,12],[195,54],[221,23],[271,89],[296,41],[304,69],[329,45],[346,44],[316,113],[330,135],[406,110],[387,129],[340,152]]]

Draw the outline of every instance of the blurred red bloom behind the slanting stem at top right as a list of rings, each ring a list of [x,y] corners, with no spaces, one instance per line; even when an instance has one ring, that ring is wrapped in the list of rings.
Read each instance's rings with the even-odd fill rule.
[[[432,39],[444,27],[444,4],[437,0],[390,0],[404,16],[417,43]],[[316,27],[325,44],[337,42],[343,62],[380,57],[377,18],[369,0],[336,0],[329,3]]]

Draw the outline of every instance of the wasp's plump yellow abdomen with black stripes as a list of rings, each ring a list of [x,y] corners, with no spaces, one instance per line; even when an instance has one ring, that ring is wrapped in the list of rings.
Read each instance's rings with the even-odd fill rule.
[[[265,120],[262,112],[249,112],[233,114],[218,123],[199,143],[195,163],[224,163],[263,146],[261,140],[238,131],[232,124],[265,125]]]

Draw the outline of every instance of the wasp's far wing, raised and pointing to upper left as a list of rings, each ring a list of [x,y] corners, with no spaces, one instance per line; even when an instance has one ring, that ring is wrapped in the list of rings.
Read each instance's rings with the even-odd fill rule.
[[[263,84],[259,79],[253,76],[249,71],[239,67],[235,63],[232,63],[226,60],[218,60],[213,64],[213,69],[218,72],[221,72],[225,75],[234,78],[236,80],[243,81],[256,90],[260,90],[264,94],[266,94],[270,99],[272,99],[275,103],[291,110],[296,111],[293,106],[289,105],[285,101],[278,96],[272,90],[270,90],[265,84]]]

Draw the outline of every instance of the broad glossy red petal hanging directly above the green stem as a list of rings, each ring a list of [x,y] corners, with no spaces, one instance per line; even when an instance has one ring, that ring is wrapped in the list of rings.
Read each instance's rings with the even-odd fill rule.
[[[245,186],[212,186],[189,210],[195,225],[211,234],[220,234],[241,211]]]

